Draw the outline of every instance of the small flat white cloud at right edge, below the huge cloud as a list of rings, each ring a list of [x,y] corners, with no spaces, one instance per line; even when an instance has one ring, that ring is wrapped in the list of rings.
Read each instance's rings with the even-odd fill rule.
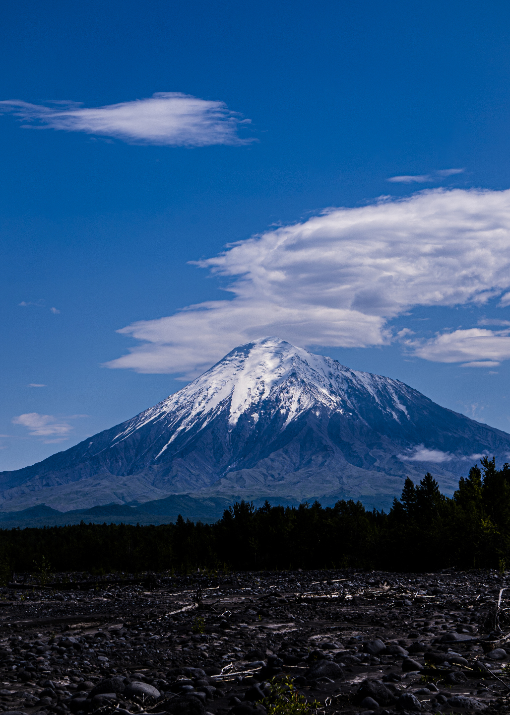
[[[462,363],[467,368],[495,368],[510,358],[509,330],[468,330],[443,332],[430,340],[404,340],[414,355],[434,363]]]

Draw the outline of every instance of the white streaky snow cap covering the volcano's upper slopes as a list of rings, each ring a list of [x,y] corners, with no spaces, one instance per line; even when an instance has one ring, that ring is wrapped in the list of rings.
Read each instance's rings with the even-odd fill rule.
[[[271,413],[279,410],[286,415],[282,429],[314,407],[357,412],[360,398],[374,400],[381,410],[400,421],[409,415],[399,395],[409,395],[409,389],[398,380],[350,370],[278,337],[265,337],[234,348],[179,392],[129,420],[114,443],[149,422],[170,417],[165,431],[171,435],[161,454],[177,435],[197,422],[204,428],[224,410],[228,410],[229,429],[244,413],[251,413],[255,425],[260,416],[258,408],[265,400],[269,400],[266,407]]]

